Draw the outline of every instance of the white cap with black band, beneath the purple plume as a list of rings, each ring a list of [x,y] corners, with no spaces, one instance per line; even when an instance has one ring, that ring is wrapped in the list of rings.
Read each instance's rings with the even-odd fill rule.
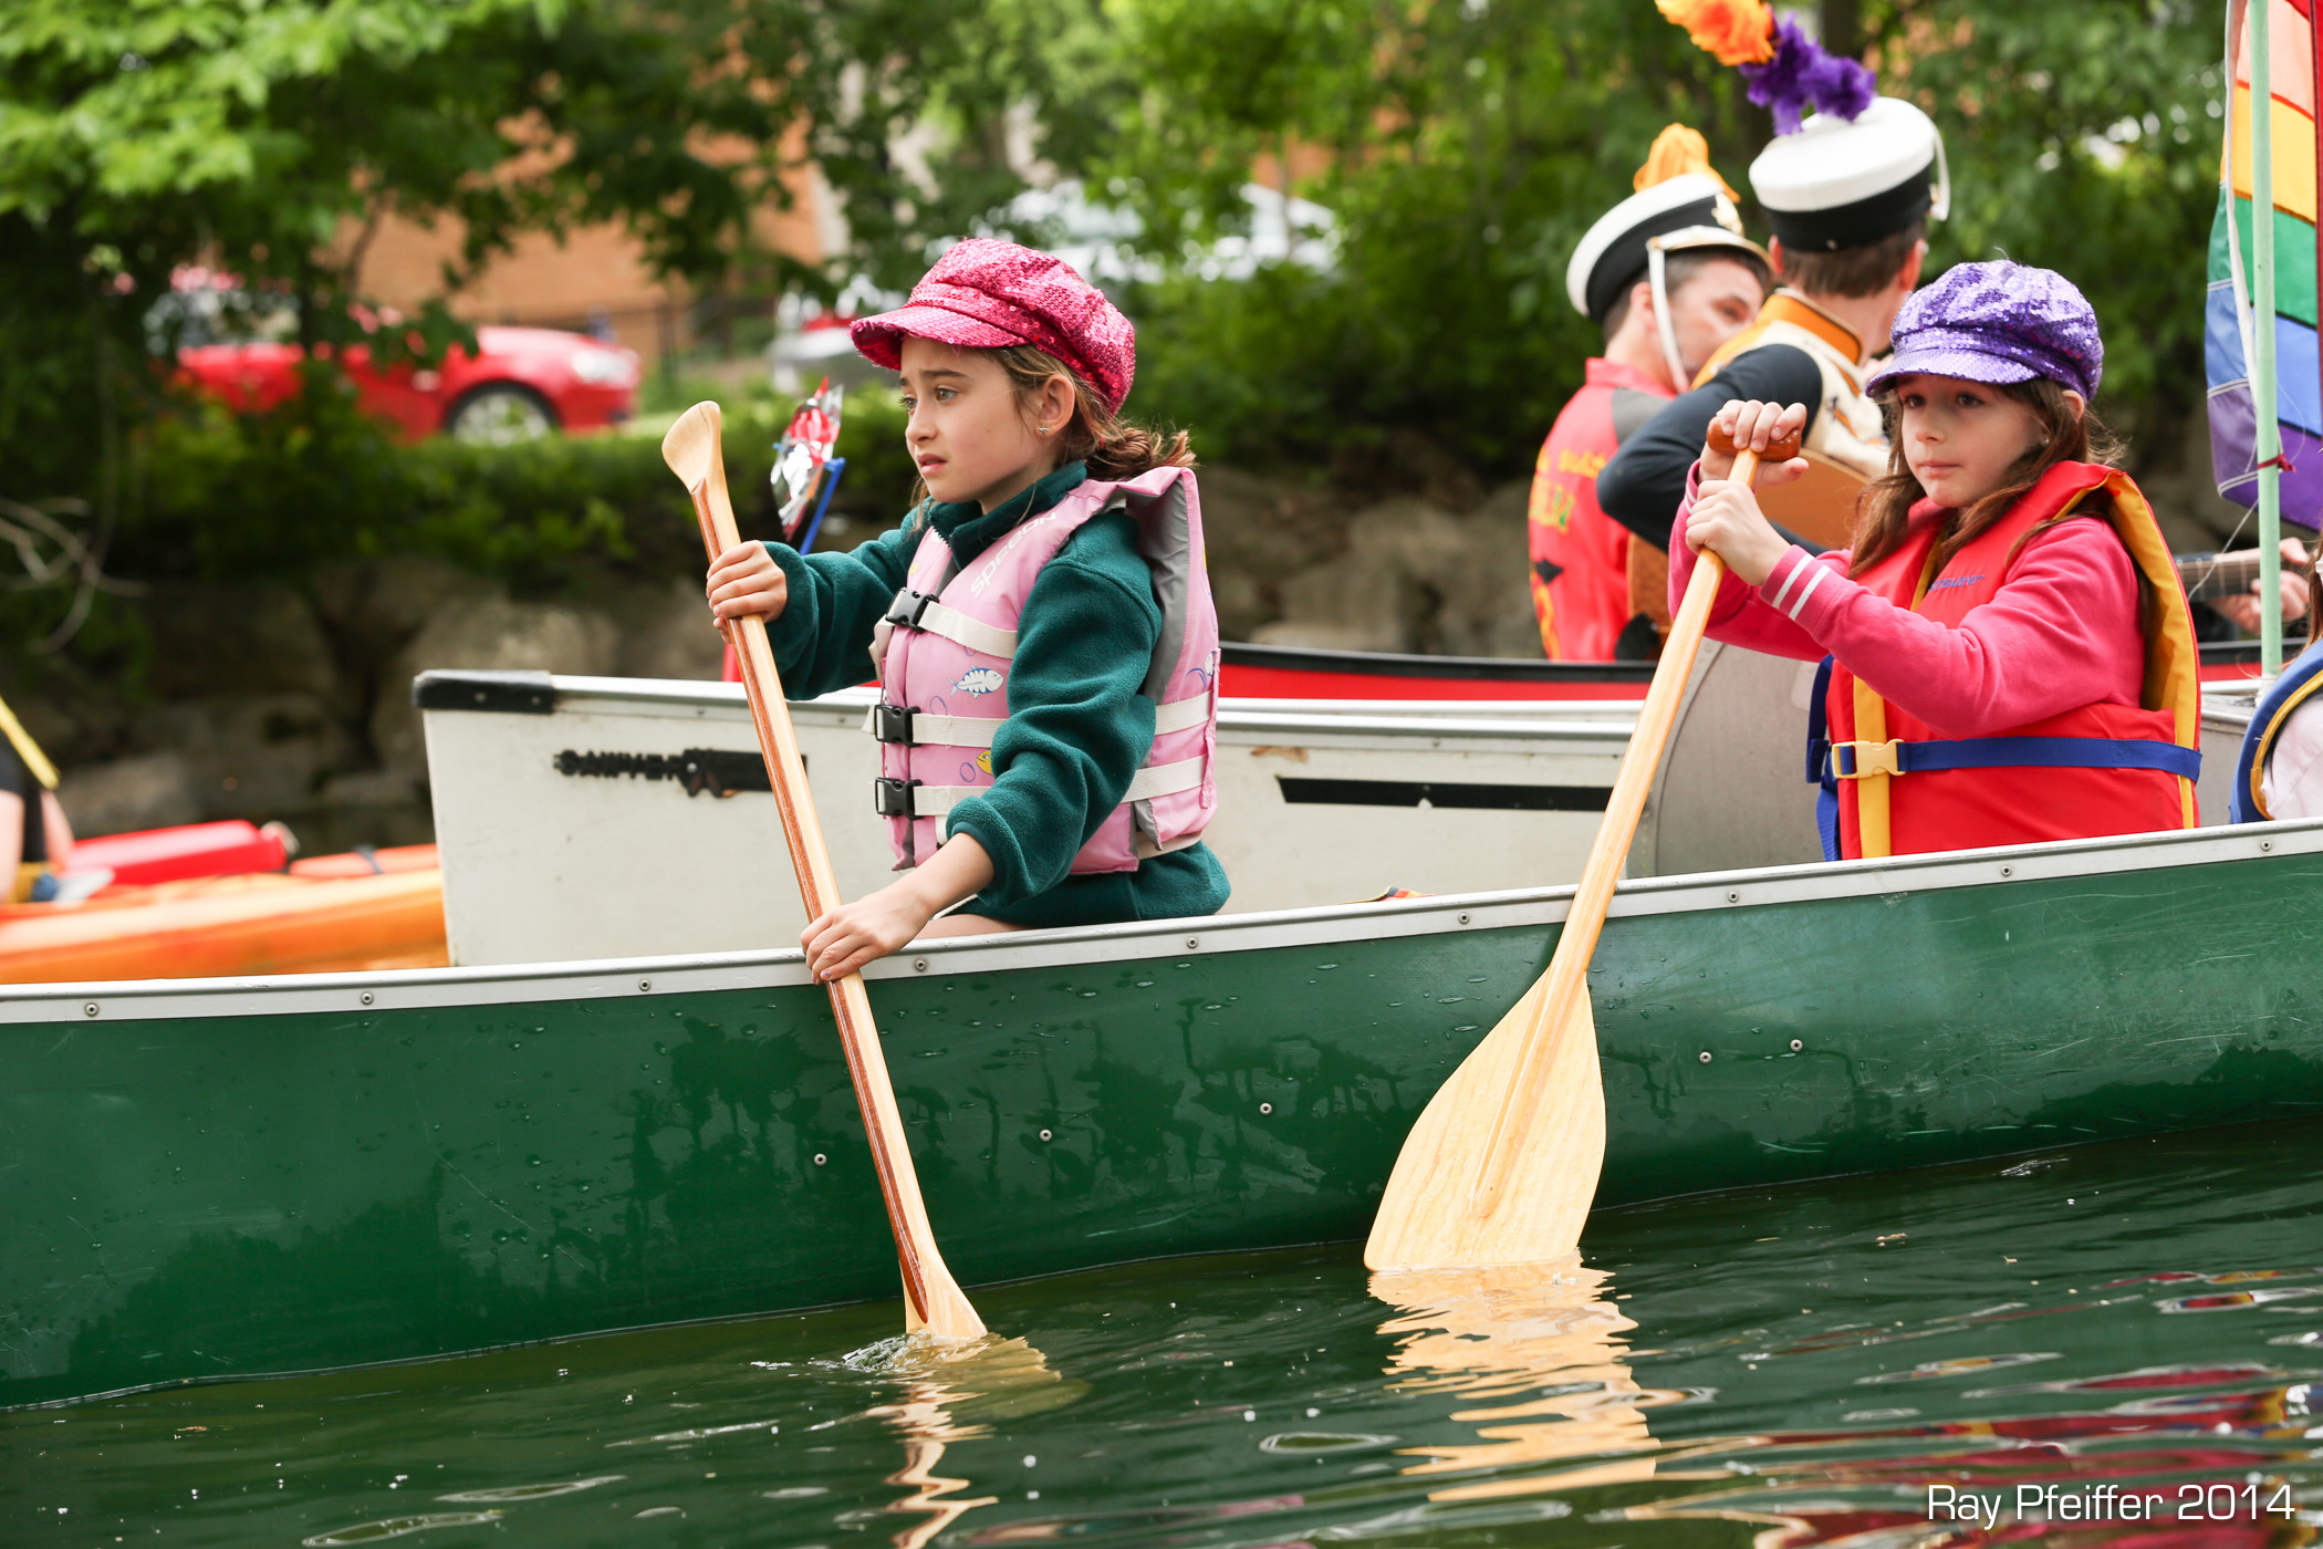
[[[1865,248],[1921,216],[1951,214],[1944,137],[1903,98],[1872,98],[1854,123],[1812,114],[1759,153],[1749,186],[1775,237],[1798,253]]]

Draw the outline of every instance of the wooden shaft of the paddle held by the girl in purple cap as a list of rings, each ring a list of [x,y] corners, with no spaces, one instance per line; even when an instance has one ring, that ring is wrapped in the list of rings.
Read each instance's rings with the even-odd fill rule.
[[[1782,448],[1775,448],[1779,453]],[[1770,453],[1772,455],[1772,453]],[[1749,485],[1759,474],[1759,453],[1742,448],[1735,453],[1731,478]],[[1605,910],[1612,908],[1614,882],[1621,880],[1621,864],[1628,845],[1638,836],[1638,820],[1645,815],[1645,797],[1661,766],[1661,748],[1670,741],[1677,722],[1677,701],[1686,692],[1693,673],[1693,657],[1703,646],[1703,629],[1710,625],[1710,604],[1717,601],[1719,581],[1726,578],[1726,562],[1703,550],[1693,562],[1693,578],[1686,581],[1686,597],[1670,620],[1670,636],[1661,643],[1661,664],[1654,669],[1654,685],[1638,706],[1638,729],[1628,736],[1621,755],[1621,773],[1614,776],[1612,794],[1605,799],[1605,820],[1598,824],[1596,845],[1582,880],[1573,889],[1566,908],[1566,927],[1556,936],[1556,954],[1549,959],[1547,985],[1540,996],[1540,1013],[1533,1017],[1524,1057],[1515,1080],[1501,1094],[1501,1108],[1491,1122],[1491,1136],[1470,1187],[1470,1210],[1489,1217],[1501,1203],[1510,1163],[1524,1147],[1533,1112],[1540,1108],[1540,1085],[1547,1075],[1549,1054],[1556,1045],[1545,1036],[1566,1024],[1573,1003],[1589,987],[1589,959],[1596,954],[1598,934],[1605,929]]]

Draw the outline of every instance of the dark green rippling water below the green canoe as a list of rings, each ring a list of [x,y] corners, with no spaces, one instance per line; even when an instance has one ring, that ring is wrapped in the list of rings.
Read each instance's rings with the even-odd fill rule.
[[[2316,1159],[1700,1196],[1403,1305],[1354,1247],[1134,1266],[980,1291],[973,1354],[890,1303],[21,1410],[0,1544],[2304,1542]]]

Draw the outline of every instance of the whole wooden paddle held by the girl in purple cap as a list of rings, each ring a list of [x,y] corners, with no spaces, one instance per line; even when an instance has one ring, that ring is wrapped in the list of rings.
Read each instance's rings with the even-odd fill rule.
[[[1712,437],[1724,441],[1717,425]],[[1786,462],[1798,455],[1798,439],[1770,446],[1765,455]],[[1749,483],[1756,471],[1759,458],[1738,451],[1733,478]],[[1566,1256],[1580,1242],[1605,1166],[1605,1087],[1589,1006],[1589,957],[1605,929],[1612,887],[1638,834],[1645,792],[1677,720],[1677,701],[1724,576],[1726,564],[1714,553],[1696,557],[1605,801],[1605,822],[1573,889],[1556,954],[1436,1091],[1403,1140],[1364,1245],[1371,1268],[1536,1263]]]

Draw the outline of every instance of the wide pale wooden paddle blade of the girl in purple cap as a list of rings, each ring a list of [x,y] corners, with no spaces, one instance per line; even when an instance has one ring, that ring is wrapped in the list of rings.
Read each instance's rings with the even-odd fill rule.
[[[1461,1263],[1538,1263],[1580,1242],[1605,1161],[1605,1085],[1587,985],[1556,1026],[1540,1029],[1540,1108],[1505,1159],[1498,1203],[1480,1205],[1480,1161],[1501,1098],[1519,1080],[1526,1033],[1547,1001],[1542,975],[1452,1073],[1426,1110],[1380,1196],[1364,1245],[1375,1270],[1429,1270]]]

